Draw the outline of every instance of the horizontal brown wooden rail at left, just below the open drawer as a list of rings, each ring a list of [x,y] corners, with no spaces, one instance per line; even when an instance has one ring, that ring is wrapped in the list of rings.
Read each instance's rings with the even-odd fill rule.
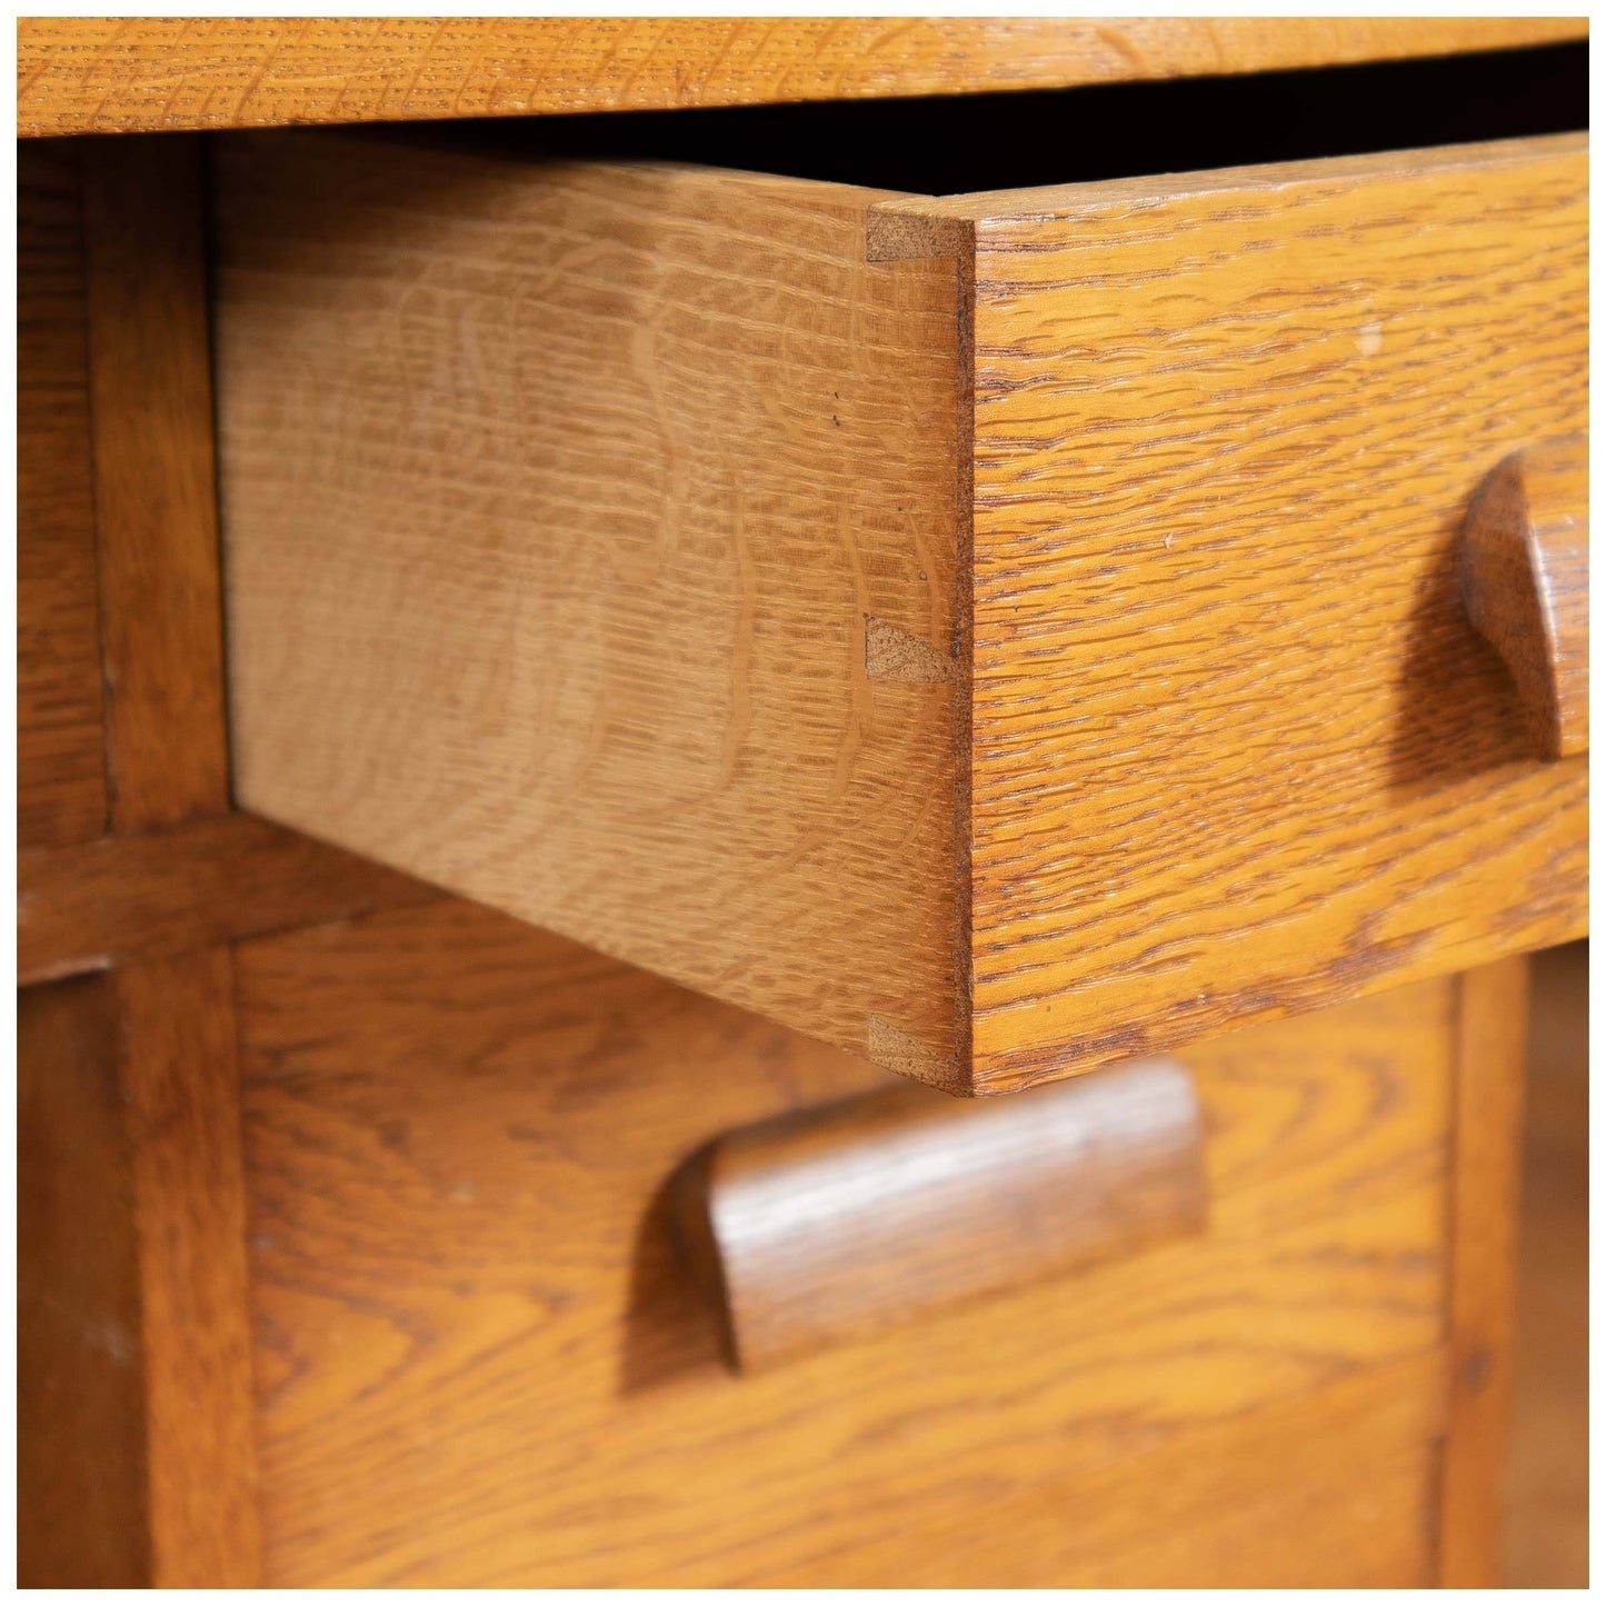
[[[16,885],[21,986],[440,896],[249,814],[24,848]]]

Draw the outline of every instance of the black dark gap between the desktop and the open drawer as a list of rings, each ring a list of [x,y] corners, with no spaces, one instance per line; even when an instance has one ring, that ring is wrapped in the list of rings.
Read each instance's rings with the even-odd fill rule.
[[[429,128],[430,143],[676,161],[911,194],[1092,183],[1588,125],[1588,45],[911,100],[581,112]]]

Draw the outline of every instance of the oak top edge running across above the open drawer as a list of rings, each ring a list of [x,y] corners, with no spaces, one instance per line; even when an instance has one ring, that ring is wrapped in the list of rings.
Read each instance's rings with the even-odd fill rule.
[[[1584,18],[19,18],[18,133],[1049,88],[1587,32]]]

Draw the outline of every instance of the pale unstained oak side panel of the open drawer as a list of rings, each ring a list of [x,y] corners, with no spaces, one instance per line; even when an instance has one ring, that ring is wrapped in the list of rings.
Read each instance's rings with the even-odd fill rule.
[[[952,1081],[956,687],[866,668],[956,630],[952,270],[805,181],[222,169],[241,803]]]

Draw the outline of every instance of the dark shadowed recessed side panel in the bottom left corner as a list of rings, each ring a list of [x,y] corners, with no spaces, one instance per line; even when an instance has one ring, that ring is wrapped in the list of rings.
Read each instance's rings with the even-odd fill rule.
[[[140,1272],[104,978],[18,994],[16,1580],[149,1582]]]

